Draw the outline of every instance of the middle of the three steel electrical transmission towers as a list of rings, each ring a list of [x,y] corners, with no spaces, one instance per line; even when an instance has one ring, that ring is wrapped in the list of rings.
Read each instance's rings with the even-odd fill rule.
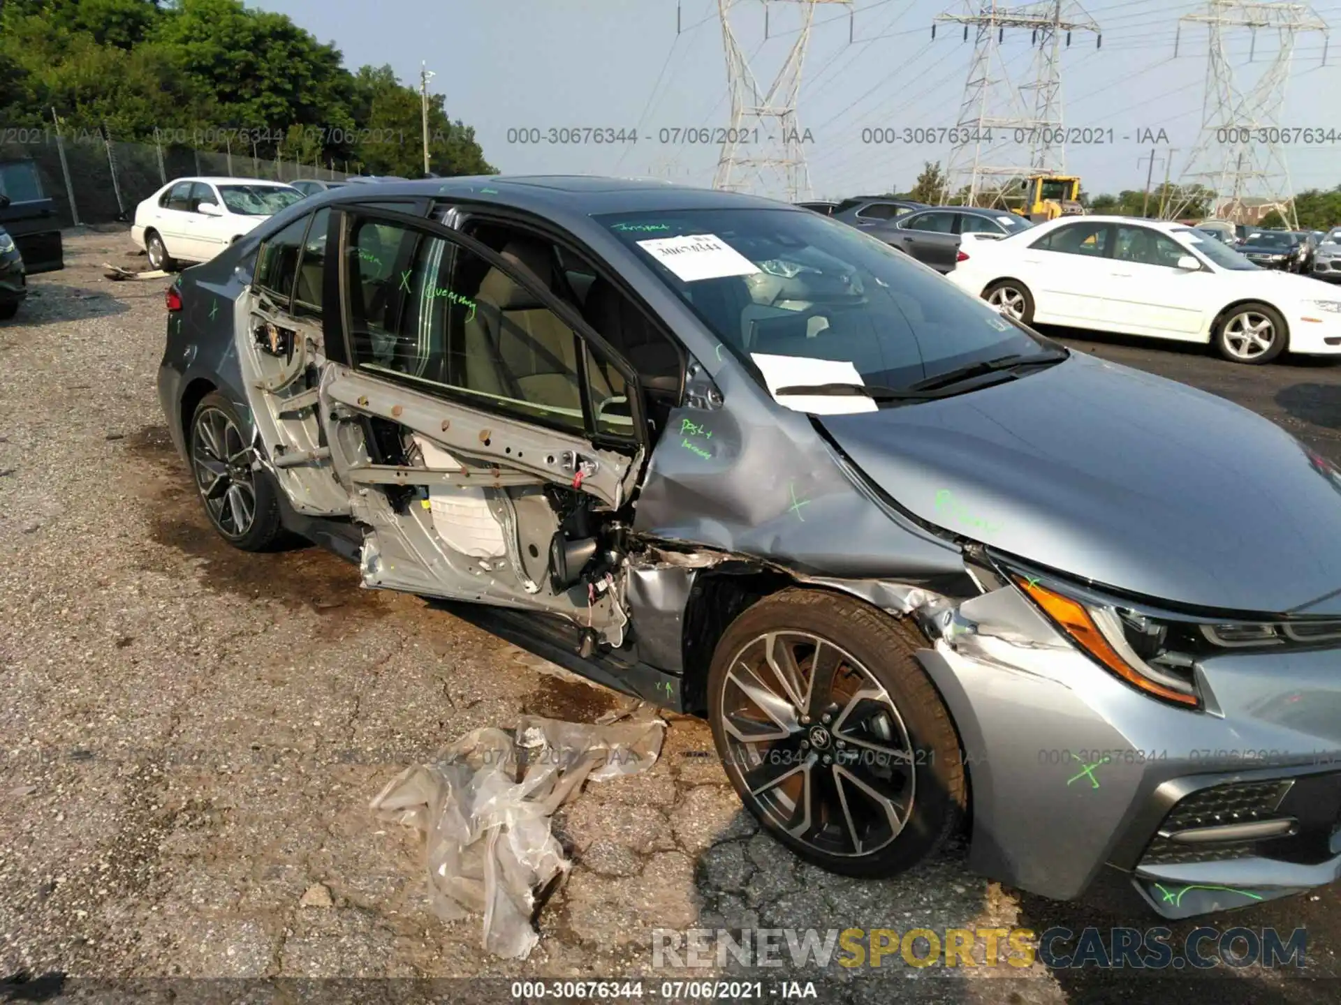
[[[941,204],[967,188],[970,205],[1004,206],[1012,180],[1065,172],[1062,47],[1082,31],[1093,32],[1102,47],[1098,24],[1066,0],[1022,7],[964,0],[961,13],[943,13],[936,21],[964,25],[966,40],[970,28],[976,29]],[[1018,84],[1002,59],[1007,28],[1029,31],[1030,46],[1038,48],[1029,79]]]

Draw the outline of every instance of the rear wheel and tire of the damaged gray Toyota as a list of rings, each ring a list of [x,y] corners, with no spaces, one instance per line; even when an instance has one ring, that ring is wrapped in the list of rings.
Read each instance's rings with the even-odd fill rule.
[[[232,434],[227,425],[232,426]],[[268,472],[253,469],[245,457],[239,460],[251,446],[249,440],[244,441],[243,429],[236,409],[224,395],[211,393],[201,398],[186,436],[192,480],[205,516],[220,537],[240,551],[268,551],[283,536],[279,492]],[[249,517],[247,494],[252,503]]]

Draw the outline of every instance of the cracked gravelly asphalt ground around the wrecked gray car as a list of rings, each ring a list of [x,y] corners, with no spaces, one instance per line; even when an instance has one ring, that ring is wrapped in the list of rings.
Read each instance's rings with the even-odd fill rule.
[[[412,596],[363,591],[315,548],[253,556],[216,537],[158,409],[165,283],[101,275],[103,261],[135,267],[130,249],[123,232],[67,234],[66,271],[34,277],[0,324],[0,997],[31,998],[39,985],[15,981],[60,974],[68,996],[122,988],[119,1000],[130,985],[99,982],[192,1000],[241,986],[197,978],[640,976],[652,994],[652,981],[717,974],[656,970],[653,929],[1159,923],[1003,888],[964,868],[961,844],[886,882],[814,870],[758,832],[705,725],[669,717],[649,772],[590,784],[555,819],[575,864],[538,913],[531,957],[484,954],[477,919],[432,913],[413,832],[378,823],[369,800],[472,729],[523,713],[590,722],[624,699]],[[1234,398],[1341,461],[1334,364],[1235,367],[1199,347],[1065,336]],[[1198,923],[1306,927],[1303,974],[1328,984],[1218,969],[1181,980],[1181,1001],[1341,989],[1336,887],[1175,935]],[[764,981],[766,997],[809,981],[819,1001],[853,1005],[1173,993],[1160,974],[990,967],[980,951],[972,967],[885,962],[725,974]],[[303,986],[369,1001],[418,985]],[[510,986],[433,985],[475,1001]]]

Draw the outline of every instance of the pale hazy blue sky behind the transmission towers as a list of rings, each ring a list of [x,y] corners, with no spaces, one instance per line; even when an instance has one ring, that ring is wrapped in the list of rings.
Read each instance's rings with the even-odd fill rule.
[[[389,63],[416,82],[420,62],[436,72],[434,92],[448,114],[475,126],[485,157],[504,173],[660,173],[709,185],[719,147],[661,145],[661,129],[725,126],[725,59],[717,0],[681,0],[684,31],[676,35],[676,0],[397,0],[331,4],[329,0],[263,0],[323,42],[333,42],[350,67]],[[1070,146],[1066,168],[1090,193],[1139,189],[1145,184],[1149,145],[1144,130],[1164,130],[1155,177],[1164,172],[1164,146],[1177,147],[1172,176],[1196,142],[1206,79],[1206,28],[1184,27],[1173,56],[1180,15],[1202,4],[1180,0],[1094,0],[1085,5],[1104,29],[1102,48],[1077,35],[1063,51],[1067,126],[1112,129],[1114,142]],[[750,9],[754,8],[754,9]],[[770,4],[763,39],[762,3],[740,3],[742,47],[763,83],[771,80],[797,39],[798,5]],[[806,58],[799,123],[807,145],[811,186],[818,197],[884,192],[912,185],[927,159],[944,161],[947,146],[870,145],[862,130],[953,126],[959,115],[972,43],[936,13],[959,12],[961,0],[857,0],[856,44],[849,44],[848,9],[817,8]],[[1341,28],[1341,3],[1320,0],[1317,11]],[[732,15],[735,17],[735,13]],[[827,23],[825,23],[827,21]],[[1262,32],[1248,62],[1247,32],[1231,36],[1231,60],[1251,78],[1274,50]],[[1011,71],[1027,71],[1034,50],[1029,32],[1007,32],[1003,56]],[[1328,66],[1322,36],[1301,36],[1290,75],[1283,126],[1324,127],[1341,134],[1341,31]],[[764,84],[767,86],[767,84]],[[508,130],[593,126],[638,130],[636,145],[510,143]],[[1129,138],[1124,138],[1129,137]],[[1106,135],[1105,135],[1106,139]],[[1295,190],[1341,184],[1341,142],[1291,147]],[[780,196],[780,192],[770,193]]]

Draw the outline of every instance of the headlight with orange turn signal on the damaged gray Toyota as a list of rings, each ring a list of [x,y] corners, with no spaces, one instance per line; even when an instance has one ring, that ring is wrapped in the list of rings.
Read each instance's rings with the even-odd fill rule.
[[[1116,604],[1081,602],[1015,574],[1015,584],[1081,651],[1147,694],[1191,709],[1202,708],[1193,658],[1171,645],[1171,623]]]

